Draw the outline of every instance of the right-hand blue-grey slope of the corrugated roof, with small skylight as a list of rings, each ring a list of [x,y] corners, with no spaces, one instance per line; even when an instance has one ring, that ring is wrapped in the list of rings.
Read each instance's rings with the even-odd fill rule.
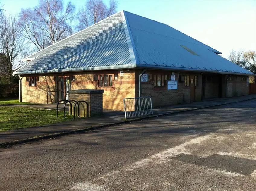
[[[150,65],[184,70],[251,74],[248,70],[216,54],[220,53],[219,51],[168,25],[129,12],[125,14],[139,60],[137,67]],[[197,55],[191,54],[182,46]]]

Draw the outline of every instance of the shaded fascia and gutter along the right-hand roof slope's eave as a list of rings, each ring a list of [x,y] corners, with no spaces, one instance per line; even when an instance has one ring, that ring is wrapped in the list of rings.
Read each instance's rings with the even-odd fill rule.
[[[191,68],[179,68],[179,67],[164,67],[164,66],[150,66],[150,65],[137,65],[137,68],[141,69],[154,69],[154,70],[170,70],[170,71],[191,71],[191,72],[207,72],[216,74],[232,74],[232,75],[244,75],[244,76],[254,76],[254,74],[249,73],[238,73],[238,72],[222,72],[217,70],[197,70]]]

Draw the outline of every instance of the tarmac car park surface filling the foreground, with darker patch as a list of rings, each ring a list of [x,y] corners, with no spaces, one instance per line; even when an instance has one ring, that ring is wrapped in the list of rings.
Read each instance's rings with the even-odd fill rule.
[[[0,190],[256,190],[256,100],[0,149]]]

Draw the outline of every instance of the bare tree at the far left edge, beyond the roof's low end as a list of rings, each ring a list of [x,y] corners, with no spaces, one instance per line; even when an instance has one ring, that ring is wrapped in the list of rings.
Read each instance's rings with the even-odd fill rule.
[[[27,46],[22,36],[22,29],[18,25],[16,16],[5,17],[0,29],[0,74],[9,84],[12,81],[12,72],[21,66],[21,58],[26,54]]]

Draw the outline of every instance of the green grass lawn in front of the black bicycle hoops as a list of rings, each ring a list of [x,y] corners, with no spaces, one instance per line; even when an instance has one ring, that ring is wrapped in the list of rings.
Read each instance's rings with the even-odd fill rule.
[[[62,121],[73,120],[72,116],[64,112],[58,112],[46,109],[27,108],[20,106],[1,106],[0,107],[0,131],[9,131],[27,127],[36,127],[41,125],[53,124]]]

